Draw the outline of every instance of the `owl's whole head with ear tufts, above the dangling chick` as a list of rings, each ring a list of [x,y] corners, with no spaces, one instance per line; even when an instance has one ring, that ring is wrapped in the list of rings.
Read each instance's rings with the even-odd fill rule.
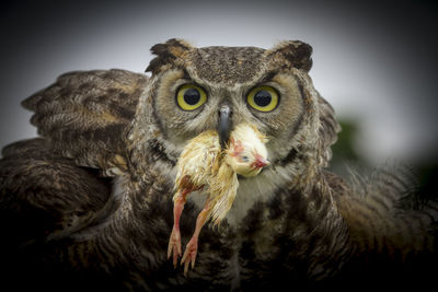
[[[152,75],[129,138],[149,162],[174,165],[200,132],[218,130],[227,143],[230,130],[246,122],[268,138],[273,166],[309,159],[316,166],[326,164],[338,125],[308,74],[308,44],[197,48],[170,39],[151,51],[157,55],[147,68]]]

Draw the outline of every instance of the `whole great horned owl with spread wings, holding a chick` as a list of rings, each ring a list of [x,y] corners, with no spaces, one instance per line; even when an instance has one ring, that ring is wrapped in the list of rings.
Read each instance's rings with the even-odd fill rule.
[[[435,257],[437,205],[400,205],[410,172],[347,184],[326,171],[339,126],[308,74],[308,44],[196,48],[170,39],[151,51],[150,78],[72,72],[23,102],[42,137],[4,148],[1,160],[1,265],[13,284],[289,290],[411,283],[413,273],[417,281],[436,271],[424,264]],[[197,267],[184,277],[166,257],[175,164],[188,140],[223,120],[223,141],[241,122],[264,132],[270,165],[239,177],[231,210],[219,229],[203,231]],[[187,201],[183,244],[204,200],[199,190]]]

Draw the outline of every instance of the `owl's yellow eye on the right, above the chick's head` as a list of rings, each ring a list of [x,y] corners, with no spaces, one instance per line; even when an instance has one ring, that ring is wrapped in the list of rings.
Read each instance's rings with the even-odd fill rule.
[[[250,91],[247,103],[260,112],[272,112],[278,105],[278,93],[270,86],[258,86]]]

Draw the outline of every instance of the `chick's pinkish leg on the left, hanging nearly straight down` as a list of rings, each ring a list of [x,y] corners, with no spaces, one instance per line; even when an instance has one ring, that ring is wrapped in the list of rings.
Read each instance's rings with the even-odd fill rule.
[[[173,202],[173,229],[171,237],[169,238],[168,259],[173,255],[173,266],[176,268],[177,258],[181,256],[181,233],[180,233],[180,218],[184,210],[186,197],[191,191],[183,189],[180,191]]]

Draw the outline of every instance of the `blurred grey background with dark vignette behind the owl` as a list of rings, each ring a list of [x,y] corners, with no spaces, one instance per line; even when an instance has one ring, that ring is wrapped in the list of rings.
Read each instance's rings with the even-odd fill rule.
[[[149,48],[172,37],[264,48],[300,39],[313,46],[310,74],[344,129],[332,167],[400,159],[430,179],[437,12],[431,1],[3,1],[0,148],[36,136],[20,102],[64,72],[142,72]]]

